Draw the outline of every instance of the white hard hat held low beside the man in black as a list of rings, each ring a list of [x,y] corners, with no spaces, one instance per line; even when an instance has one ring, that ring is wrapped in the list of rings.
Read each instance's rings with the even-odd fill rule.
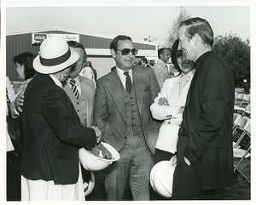
[[[161,196],[172,197],[172,181],[176,164],[161,161],[154,165],[150,173],[150,184]]]

